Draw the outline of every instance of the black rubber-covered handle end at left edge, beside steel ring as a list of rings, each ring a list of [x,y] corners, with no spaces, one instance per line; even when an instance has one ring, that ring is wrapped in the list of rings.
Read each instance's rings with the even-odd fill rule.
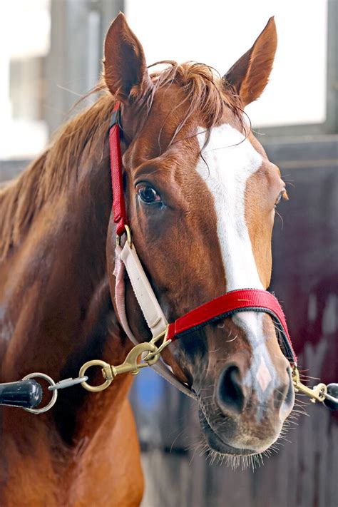
[[[0,384],[0,405],[34,409],[41,403],[42,387],[35,380],[19,380]]]

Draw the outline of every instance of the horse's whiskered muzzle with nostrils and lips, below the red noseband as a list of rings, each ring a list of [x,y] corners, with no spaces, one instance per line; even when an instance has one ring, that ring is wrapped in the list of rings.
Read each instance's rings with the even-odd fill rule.
[[[280,436],[295,401],[290,364],[278,361],[264,372],[241,351],[208,375],[198,396],[200,424],[211,449],[222,454],[257,454]],[[208,387],[209,385],[209,387]]]

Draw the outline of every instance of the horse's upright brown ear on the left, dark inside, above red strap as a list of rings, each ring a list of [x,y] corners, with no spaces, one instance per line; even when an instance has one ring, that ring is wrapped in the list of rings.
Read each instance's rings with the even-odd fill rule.
[[[151,87],[143,47],[121,12],[106,35],[103,68],[109,91],[123,103],[137,101]]]

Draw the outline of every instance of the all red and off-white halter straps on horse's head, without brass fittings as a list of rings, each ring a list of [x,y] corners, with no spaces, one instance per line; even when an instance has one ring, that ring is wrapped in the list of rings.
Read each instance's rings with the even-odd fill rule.
[[[265,290],[242,289],[227,292],[225,295],[208,301],[183,315],[183,317],[175,320],[175,322],[168,324],[131,241],[126,204],[123,195],[122,160],[119,139],[120,128],[118,126],[119,108],[120,104],[116,103],[109,132],[111,178],[113,185],[113,217],[116,223],[116,233],[118,237],[116,267],[114,270],[114,275],[116,276],[115,299],[118,318],[131,342],[138,344],[138,340],[133,335],[133,332],[131,332],[126,316],[125,270],[133,287],[140,309],[145,317],[145,322],[147,322],[153,337],[163,335],[164,342],[173,342],[175,339],[183,337],[193,330],[200,329],[218,319],[230,317],[237,312],[265,312],[270,314],[277,324],[282,352],[287,359],[289,359],[291,364],[296,365],[297,358],[292,348],[287,323],[280,303],[275,296]],[[120,237],[123,235],[123,232],[127,232],[128,239],[125,245],[121,247]],[[193,394],[188,386],[182,384],[175,375],[173,375],[164,362],[154,364],[153,368],[165,379],[170,381],[171,384],[178,387],[180,391],[195,398],[195,394]]]

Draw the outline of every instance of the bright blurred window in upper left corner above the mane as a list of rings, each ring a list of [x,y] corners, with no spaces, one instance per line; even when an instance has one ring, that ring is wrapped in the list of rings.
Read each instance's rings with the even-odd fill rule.
[[[0,1],[0,159],[30,158],[46,145],[49,9],[49,0]]]

